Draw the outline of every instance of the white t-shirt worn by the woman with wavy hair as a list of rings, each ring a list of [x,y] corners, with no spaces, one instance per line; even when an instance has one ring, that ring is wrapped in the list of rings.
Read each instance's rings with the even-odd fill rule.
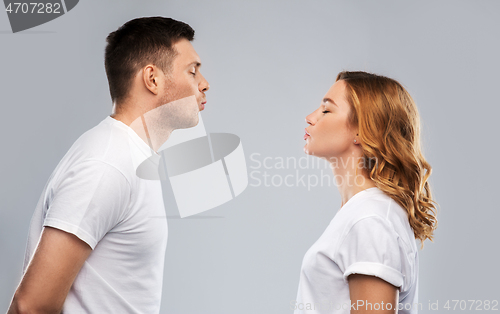
[[[306,252],[295,314],[350,313],[347,277],[379,277],[399,289],[399,313],[417,313],[418,249],[406,210],[377,187],[344,204]],[[382,304],[359,302],[358,309]],[[387,305],[383,305],[387,309]]]

